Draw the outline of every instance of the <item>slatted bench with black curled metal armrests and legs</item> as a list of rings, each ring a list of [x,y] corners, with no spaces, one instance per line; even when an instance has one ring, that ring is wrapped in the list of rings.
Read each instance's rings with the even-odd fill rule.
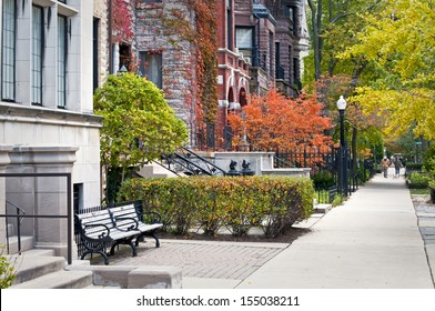
[[[141,204],[136,207],[142,208]],[[134,213],[133,213],[134,211]],[[81,259],[87,254],[99,253],[104,259],[104,264],[109,264],[109,254],[114,254],[114,250],[120,244],[127,244],[132,250],[132,255],[138,255],[136,247],[144,235],[151,235],[160,245],[155,231],[163,224],[158,213],[154,215],[153,223],[142,222],[142,213],[138,211],[133,203],[118,205],[109,209],[101,209],[91,212],[77,213],[75,222],[80,241],[84,247]],[[134,240],[134,243],[133,243]]]

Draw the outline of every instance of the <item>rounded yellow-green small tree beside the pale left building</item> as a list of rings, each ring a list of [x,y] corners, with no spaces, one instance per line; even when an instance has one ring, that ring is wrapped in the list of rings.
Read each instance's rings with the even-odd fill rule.
[[[93,101],[95,114],[103,117],[101,162],[108,175],[120,171],[121,181],[130,168],[172,153],[188,140],[185,123],[161,90],[138,74],[109,76]]]

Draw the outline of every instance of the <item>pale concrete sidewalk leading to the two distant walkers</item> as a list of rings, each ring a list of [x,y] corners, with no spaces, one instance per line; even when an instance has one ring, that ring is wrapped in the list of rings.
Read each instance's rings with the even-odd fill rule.
[[[405,180],[377,174],[240,289],[433,289]]]

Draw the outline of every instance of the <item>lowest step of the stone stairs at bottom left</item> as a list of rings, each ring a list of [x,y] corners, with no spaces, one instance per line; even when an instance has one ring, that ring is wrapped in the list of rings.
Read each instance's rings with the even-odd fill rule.
[[[91,271],[65,271],[39,277],[11,289],[82,289],[92,284]]]

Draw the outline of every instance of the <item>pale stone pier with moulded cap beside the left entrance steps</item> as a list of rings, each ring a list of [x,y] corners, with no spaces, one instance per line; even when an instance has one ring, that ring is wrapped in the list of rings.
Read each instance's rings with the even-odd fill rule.
[[[77,147],[19,146],[10,152],[9,173],[72,173]],[[72,185],[69,189],[72,193]],[[67,215],[65,177],[9,178],[7,198],[27,214]],[[72,200],[72,195],[71,195]],[[72,209],[72,202],[71,202]],[[73,211],[71,211],[73,214]],[[72,230],[73,230],[73,220]],[[71,232],[72,234],[73,232]],[[65,218],[27,218],[22,234],[36,238],[36,248],[53,249],[55,255],[68,255],[68,221]],[[73,235],[72,235],[73,237]],[[75,247],[75,243],[72,243]],[[77,253],[75,249],[72,254]]]

